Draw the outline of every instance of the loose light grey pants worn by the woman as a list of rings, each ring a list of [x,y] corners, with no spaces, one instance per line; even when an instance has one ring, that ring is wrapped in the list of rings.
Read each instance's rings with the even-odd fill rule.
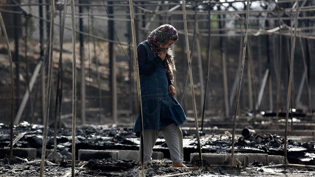
[[[152,161],[152,149],[158,137],[159,131],[161,131],[164,136],[169,149],[171,161],[173,163],[183,162],[182,132],[179,126],[172,123],[161,129],[145,129],[143,131],[144,164]]]

